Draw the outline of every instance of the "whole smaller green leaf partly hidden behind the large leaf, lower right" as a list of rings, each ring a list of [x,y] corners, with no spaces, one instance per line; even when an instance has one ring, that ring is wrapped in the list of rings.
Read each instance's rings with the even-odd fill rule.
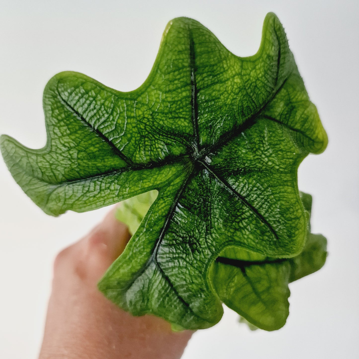
[[[301,193],[301,198],[310,213],[312,197]],[[325,237],[310,233],[309,228],[303,252],[293,258],[257,261],[217,258],[211,278],[219,298],[258,328],[283,327],[289,314],[288,284],[319,270],[326,260]]]

